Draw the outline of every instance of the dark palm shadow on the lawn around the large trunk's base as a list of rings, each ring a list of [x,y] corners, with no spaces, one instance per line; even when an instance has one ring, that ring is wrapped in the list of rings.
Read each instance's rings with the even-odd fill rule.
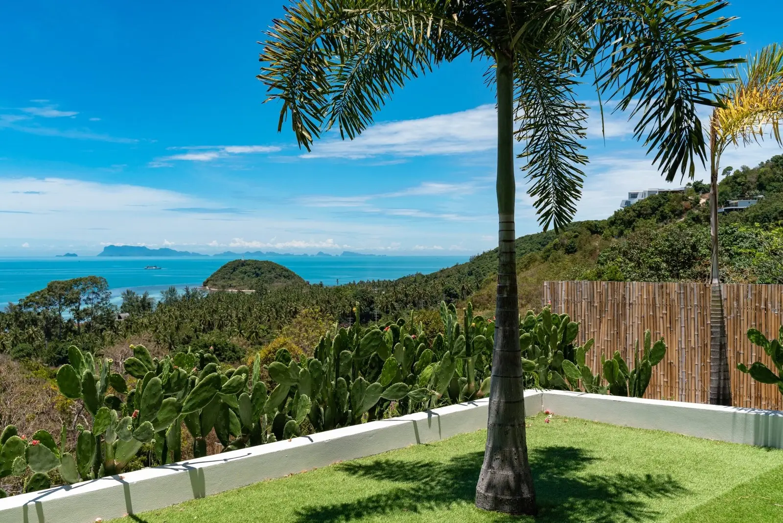
[[[399,487],[351,503],[306,507],[298,522],[352,521],[384,514],[447,509],[453,503],[473,503],[484,453],[455,456],[449,461],[373,460],[344,463],[341,471],[361,478],[395,482]],[[576,474],[600,460],[572,446],[548,446],[530,453],[539,515],[535,521],[620,523],[651,521],[661,515],[656,498],[687,493],[663,474]],[[488,521],[518,521],[507,514],[487,513]]]

